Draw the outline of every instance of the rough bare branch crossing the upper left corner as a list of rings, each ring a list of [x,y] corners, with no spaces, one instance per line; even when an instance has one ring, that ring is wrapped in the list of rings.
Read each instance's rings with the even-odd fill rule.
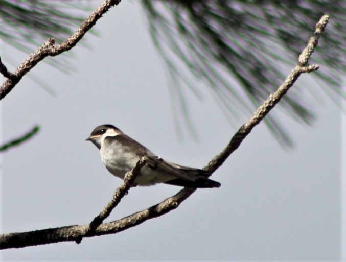
[[[25,74],[27,74],[38,62],[48,56],[57,56],[63,52],[71,50],[83,36],[88,32],[96,22],[105,14],[111,7],[118,5],[121,0],[106,0],[97,10],[95,10],[80,26],[80,28],[66,41],[61,44],[54,45],[55,39],[50,38],[47,42],[41,45],[33,54],[22,62],[14,73],[7,72],[6,77],[9,79],[0,86],[0,100],[5,98],[7,94],[16,86]],[[5,67],[6,68],[6,67]],[[0,68],[1,69],[1,68]],[[7,69],[6,69],[7,70]]]

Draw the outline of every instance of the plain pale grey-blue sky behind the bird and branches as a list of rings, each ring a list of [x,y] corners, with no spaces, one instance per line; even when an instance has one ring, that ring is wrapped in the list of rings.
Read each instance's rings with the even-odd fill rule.
[[[2,101],[3,141],[35,124],[41,127],[33,139],[2,156],[3,233],[81,225],[98,215],[122,182],[85,141],[98,125],[117,126],[169,161],[202,168],[248,120],[250,115],[235,129],[209,91],[200,102],[187,90],[199,138],[179,139],[163,62],[145,22],[139,4],[123,1],[97,23],[101,37],[87,36],[92,50],[73,49],[76,73],[66,75],[42,62],[32,70],[55,97],[26,76]],[[29,55],[4,43],[0,47],[18,65]],[[261,123],[213,174],[220,188],[198,189],[178,209],[119,234],[83,239],[79,245],[5,250],[3,261],[340,260],[345,116],[311,77],[299,81],[317,89],[319,104],[306,98],[318,117],[312,127],[273,110],[294,138],[294,149],[281,148]],[[179,190],[132,188],[106,221]]]

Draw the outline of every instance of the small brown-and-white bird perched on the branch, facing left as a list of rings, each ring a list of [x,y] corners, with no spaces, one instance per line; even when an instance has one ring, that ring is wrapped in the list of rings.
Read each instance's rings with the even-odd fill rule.
[[[135,178],[132,187],[157,183],[194,188],[212,188],[221,185],[208,178],[210,172],[164,160],[112,125],[96,127],[85,140],[93,142],[100,150],[106,169],[121,179],[124,179],[126,172],[146,156],[147,163]]]

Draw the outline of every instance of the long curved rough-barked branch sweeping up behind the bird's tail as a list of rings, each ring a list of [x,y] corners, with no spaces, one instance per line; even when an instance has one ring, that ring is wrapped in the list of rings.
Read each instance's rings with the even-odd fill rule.
[[[230,139],[225,149],[216,155],[205,167],[204,170],[215,172],[219,166],[232,154],[251,132],[252,128],[260,123],[269,111],[279,103],[280,99],[287,93],[302,73],[310,73],[318,69],[318,65],[306,66],[320,33],[325,29],[329,16],[324,15],[316,25],[314,36],[299,56],[298,64],[286,78],[285,82],[260,106],[249,121],[244,124],[238,132]],[[60,228],[44,229],[24,233],[9,233],[0,236],[0,249],[20,248],[42,244],[57,243],[63,241],[80,241],[83,237],[92,237],[96,235],[114,234],[124,231],[128,228],[139,225],[149,219],[153,219],[168,213],[177,208],[181,202],[186,200],[196,191],[196,188],[183,188],[175,196],[167,198],[163,202],[136,212],[128,217],[122,218],[110,223],[101,224],[95,230],[90,231],[90,224],[66,226]]]

